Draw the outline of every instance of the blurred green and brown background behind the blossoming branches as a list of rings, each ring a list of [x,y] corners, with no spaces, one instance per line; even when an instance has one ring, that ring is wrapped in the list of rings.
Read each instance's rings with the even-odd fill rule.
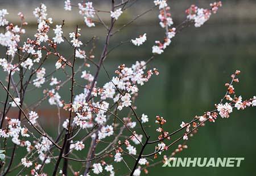
[[[32,11],[35,7],[44,2],[48,7],[48,16],[53,18],[53,22],[61,24],[62,19],[66,19],[64,33],[75,31],[76,24],[82,29],[84,38],[89,40],[92,36],[97,36],[95,42],[97,48],[94,51],[96,59],[100,57],[104,44],[106,32],[101,25],[96,28],[85,27],[82,17],[77,9],[72,12],[64,11],[62,1],[1,1],[1,8],[7,8],[10,15],[7,17],[10,22],[19,23],[15,16],[19,11],[24,12],[28,20],[26,27],[26,37],[32,37],[36,30],[35,18]],[[73,1],[77,3],[78,1]],[[93,1],[97,8],[108,8],[108,1]],[[175,24],[179,24],[185,19],[184,10],[195,3],[200,7],[207,8],[211,1],[169,1],[172,17]],[[138,5],[131,7],[124,12],[118,20],[117,29],[134,16],[140,14],[147,8],[153,6],[152,1],[138,1]],[[105,61],[105,67],[111,75],[114,75],[115,68],[125,63],[127,66],[135,61],[146,61],[151,56],[151,46],[155,40],[161,40],[164,31],[158,25],[158,10],[150,12],[134,22],[130,27],[125,28],[110,40],[112,48],[120,41],[127,41],[138,35],[147,33],[147,41],[144,45],[136,47],[131,44],[120,46],[109,54]],[[109,16],[102,14],[102,18],[107,20]],[[214,109],[214,104],[220,101],[226,88],[224,84],[230,81],[230,75],[241,70],[240,83],[235,85],[236,94],[243,98],[250,98],[255,93],[256,79],[256,1],[224,1],[223,7],[212,15],[209,22],[201,28],[189,27],[179,33],[168,49],[162,55],[150,63],[150,68],[158,68],[159,76],[152,76],[143,87],[139,88],[139,97],[136,102],[138,114],[145,113],[150,117],[151,128],[147,131],[151,138],[155,138],[154,118],[156,115],[167,119],[166,129],[174,131],[179,128],[181,121],[189,122],[195,115],[201,115],[204,111]],[[30,26],[32,25],[32,27]],[[175,26],[174,24],[174,26]],[[119,26],[118,26],[119,25]],[[89,51],[92,45],[85,48]],[[58,50],[66,57],[72,54],[72,49],[68,45],[63,45]],[[1,58],[5,57],[1,50]],[[53,70],[56,58],[48,59],[44,66],[46,70]],[[78,61],[77,65],[82,62]],[[93,74],[93,65],[90,70]],[[6,73],[0,72],[1,80],[5,79]],[[57,78],[65,80],[63,72],[55,74]],[[77,80],[83,83],[83,80]],[[102,86],[108,77],[101,70],[98,86]],[[31,87],[32,88],[32,87]],[[43,88],[36,89],[29,93],[25,100],[27,104],[32,104],[38,98],[43,97]],[[69,93],[67,87],[59,91],[64,100],[68,100]],[[80,87],[76,87],[76,92],[81,92]],[[5,98],[5,92],[0,91],[1,100]],[[52,109],[48,102],[43,102],[39,107],[39,114],[42,114],[40,121],[42,125],[56,134],[57,110]],[[44,111],[50,111],[52,115],[44,115]],[[56,112],[55,112],[56,111]],[[197,135],[188,141],[188,149],[177,154],[177,157],[244,157],[240,168],[162,168],[161,165],[148,169],[148,175],[255,175],[256,157],[256,109],[234,110],[229,119],[217,119],[215,123],[207,123],[200,128]],[[125,114],[119,114],[120,117]],[[63,115],[63,119],[65,119]],[[180,135],[174,137],[178,138]],[[182,142],[182,141],[181,141]],[[85,148],[89,148],[89,142]],[[173,150],[175,147],[173,148]],[[147,148],[145,153],[150,153],[154,147]],[[166,154],[170,154],[172,151]],[[26,149],[19,149],[15,156],[15,163],[20,161],[21,155]],[[82,154],[81,152],[79,154]],[[20,156],[19,156],[20,155]],[[85,155],[85,154],[84,154]],[[151,161],[151,163],[154,161]],[[131,164],[131,161],[128,161]],[[15,164],[14,164],[15,165]],[[119,164],[119,169],[124,170],[124,164]],[[79,169],[80,166],[74,165]],[[51,170],[51,168],[49,168]],[[12,174],[10,174],[12,175]],[[15,175],[15,173],[13,173]]]

